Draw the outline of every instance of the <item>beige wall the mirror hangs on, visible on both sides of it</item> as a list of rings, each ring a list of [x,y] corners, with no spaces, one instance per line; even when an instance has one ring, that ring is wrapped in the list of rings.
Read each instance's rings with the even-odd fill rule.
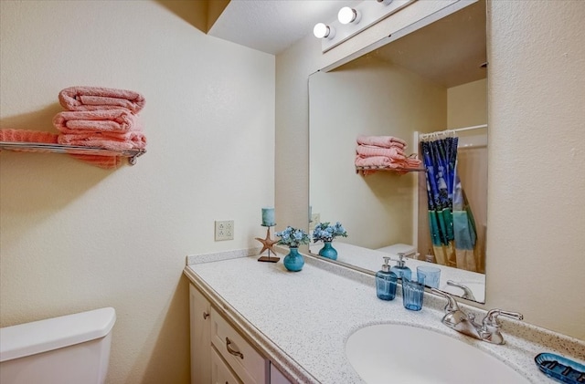
[[[531,324],[581,339],[585,306],[577,298],[585,295],[585,257],[579,241],[585,233],[585,179],[580,176],[585,168],[583,18],[582,1],[488,2],[490,166],[484,306],[522,312]],[[306,221],[306,211],[298,208],[308,202],[306,81],[333,62],[327,61],[330,56],[321,55],[317,39],[306,36],[276,57],[278,223]]]

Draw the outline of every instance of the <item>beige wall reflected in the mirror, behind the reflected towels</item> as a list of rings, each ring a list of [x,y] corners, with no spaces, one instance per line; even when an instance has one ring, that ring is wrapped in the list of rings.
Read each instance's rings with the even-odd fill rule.
[[[314,73],[309,89],[313,213],[344,223],[349,237],[341,242],[372,249],[413,244],[415,174],[357,175],[356,137],[391,135],[409,143],[407,155],[417,152],[413,130],[446,126],[447,90],[374,54]]]

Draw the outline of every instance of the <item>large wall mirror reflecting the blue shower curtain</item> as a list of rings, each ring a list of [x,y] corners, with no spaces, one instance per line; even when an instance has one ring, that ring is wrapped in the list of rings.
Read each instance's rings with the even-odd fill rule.
[[[406,263],[413,275],[420,265],[439,267],[441,290],[484,302],[486,78],[484,0],[310,76],[309,229],[345,226],[348,237],[333,244],[335,262],[376,272],[384,255],[415,251]],[[419,159],[424,141],[431,165],[443,142],[457,140],[454,178],[437,177],[434,163],[435,182],[428,182],[425,161],[412,167],[422,171],[364,174],[356,170],[358,135],[399,138],[407,142],[401,153]],[[433,194],[444,181],[451,185],[446,208]],[[441,225],[450,238],[437,234]]]

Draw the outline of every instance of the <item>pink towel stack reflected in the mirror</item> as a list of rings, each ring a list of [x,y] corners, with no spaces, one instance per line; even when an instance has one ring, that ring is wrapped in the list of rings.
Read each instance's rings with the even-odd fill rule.
[[[356,167],[369,168],[364,175],[376,172],[378,168],[392,168],[401,173],[420,167],[421,161],[416,154],[407,156],[405,140],[393,136],[366,136],[357,137]]]

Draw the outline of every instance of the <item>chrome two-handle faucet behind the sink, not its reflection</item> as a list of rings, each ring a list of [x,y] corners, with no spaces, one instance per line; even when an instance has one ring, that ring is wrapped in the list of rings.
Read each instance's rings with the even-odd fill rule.
[[[431,288],[431,292],[447,299],[445,316],[442,317],[441,320],[442,324],[456,330],[457,332],[463,333],[463,335],[484,340],[488,343],[504,344],[504,337],[500,332],[502,326],[497,321],[498,316],[512,317],[517,320],[522,320],[524,318],[521,314],[516,312],[492,309],[487,312],[487,315],[485,315],[482,320],[482,324],[478,324],[475,322],[474,315],[466,314],[461,310],[453,296],[435,288]]]

